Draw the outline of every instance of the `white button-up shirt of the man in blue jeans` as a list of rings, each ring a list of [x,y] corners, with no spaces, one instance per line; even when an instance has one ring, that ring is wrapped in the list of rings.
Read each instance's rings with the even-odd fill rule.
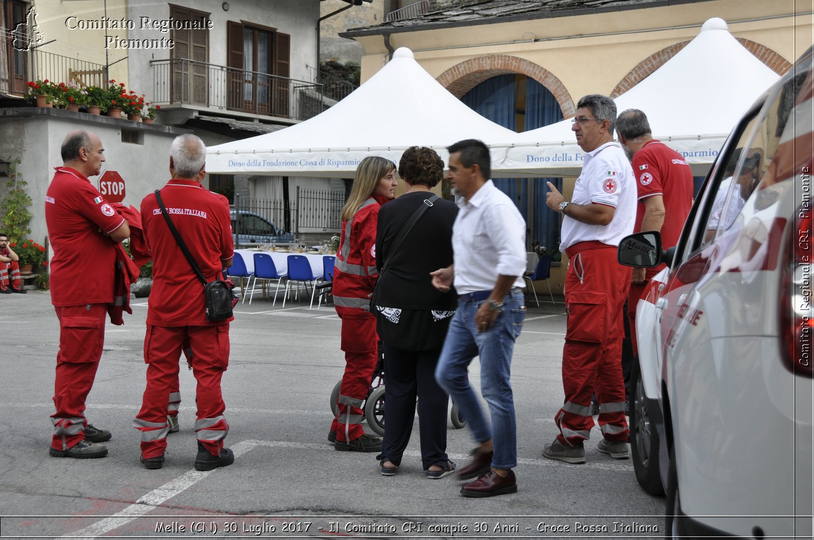
[[[514,202],[489,180],[469,202],[461,197],[457,205],[453,224],[457,294],[492,290],[498,275],[517,276],[512,286],[522,287],[526,222]]]

